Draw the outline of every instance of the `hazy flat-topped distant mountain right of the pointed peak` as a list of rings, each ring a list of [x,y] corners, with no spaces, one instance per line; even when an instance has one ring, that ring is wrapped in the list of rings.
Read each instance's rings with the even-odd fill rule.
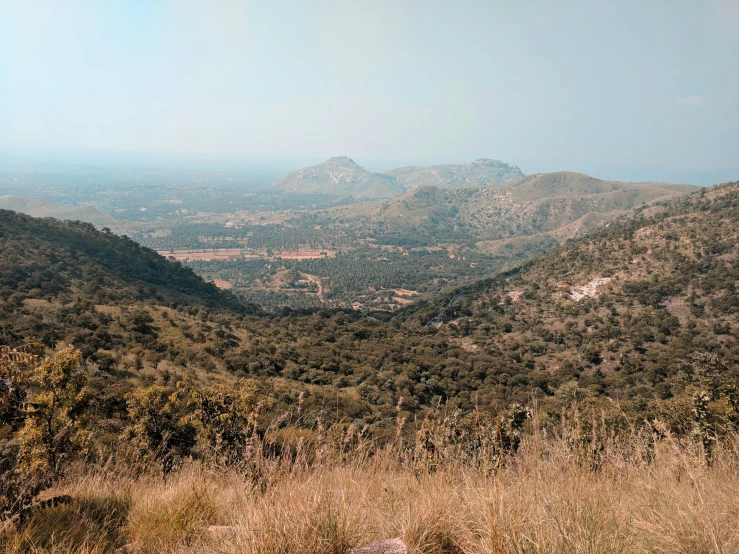
[[[524,176],[515,165],[486,158],[466,164],[399,167],[385,175],[409,189],[426,185],[442,188],[499,185]]]

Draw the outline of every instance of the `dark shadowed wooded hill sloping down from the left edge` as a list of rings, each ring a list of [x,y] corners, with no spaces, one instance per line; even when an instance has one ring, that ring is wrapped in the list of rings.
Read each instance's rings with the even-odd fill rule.
[[[234,296],[127,237],[89,223],[38,219],[0,210],[0,298],[4,310],[26,300],[126,305],[152,301],[246,312]],[[0,341],[2,343],[2,341]]]

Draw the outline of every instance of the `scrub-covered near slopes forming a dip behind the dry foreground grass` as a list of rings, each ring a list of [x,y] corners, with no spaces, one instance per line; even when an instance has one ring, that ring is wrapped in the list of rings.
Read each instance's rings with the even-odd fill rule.
[[[126,239],[15,214],[4,221],[15,229],[5,225],[4,237],[16,239],[4,241],[3,341],[71,341],[102,379],[253,377],[279,391],[278,405],[303,391],[308,405],[335,399],[326,417],[369,423],[391,418],[401,397],[409,413],[440,401],[495,411],[532,394],[545,406],[567,394],[608,396],[646,413],[680,396],[689,354],[739,361],[736,184],[646,208],[392,318],[248,315]],[[28,239],[24,226],[34,229]],[[195,300],[178,305],[180,297]]]

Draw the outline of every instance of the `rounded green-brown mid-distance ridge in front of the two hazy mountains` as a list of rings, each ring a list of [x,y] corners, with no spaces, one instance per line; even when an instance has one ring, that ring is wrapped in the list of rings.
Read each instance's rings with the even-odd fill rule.
[[[591,232],[643,204],[697,187],[602,181],[579,173],[531,175],[489,187],[418,187],[385,202],[333,208],[344,224],[377,240],[414,236],[425,244],[462,241],[499,250],[523,237],[561,242]],[[519,248],[519,247],[517,247]]]

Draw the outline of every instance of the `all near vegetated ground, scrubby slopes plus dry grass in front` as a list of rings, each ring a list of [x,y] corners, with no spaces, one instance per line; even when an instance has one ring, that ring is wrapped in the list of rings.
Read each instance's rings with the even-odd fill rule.
[[[736,491],[719,483],[736,477],[739,184],[393,312],[264,313],[125,237],[2,216],[8,551],[207,551],[225,524],[254,552],[347,552],[381,534],[421,552],[506,551],[524,535],[578,551],[596,528],[629,537],[604,551],[737,544],[722,519]],[[580,507],[536,492],[547,471],[576,480]],[[364,498],[396,519],[349,508],[352,479],[377,483]],[[309,501],[310,482],[341,492]],[[532,487],[521,501],[541,523],[479,511],[483,487],[509,502],[513,483]],[[650,533],[580,519],[623,487],[637,503],[685,496],[631,510]],[[393,494],[422,511],[399,512]],[[233,498],[253,510],[237,517]]]

